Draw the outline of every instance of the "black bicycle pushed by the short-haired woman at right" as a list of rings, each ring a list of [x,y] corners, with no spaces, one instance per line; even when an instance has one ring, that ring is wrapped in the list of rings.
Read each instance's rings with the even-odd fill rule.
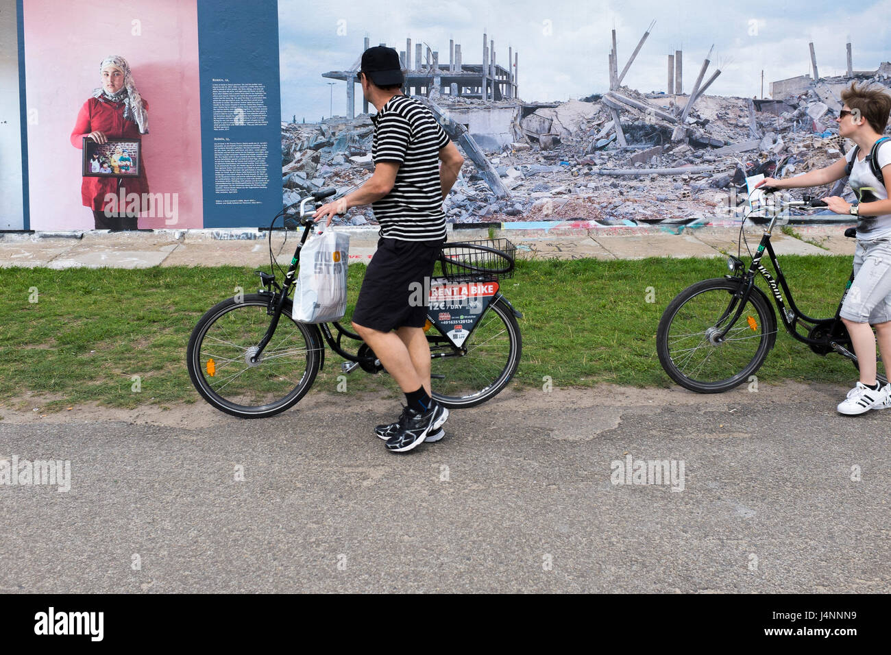
[[[747,218],[769,220],[748,268],[740,258],[744,238],[740,226],[737,257],[727,259],[731,274],[687,287],[668,304],[659,321],[656,332],[659,363],[672,380],[686,389],[699,393],[727,391],[747,381],[764,363],[776,340],[777,322],[767,294],[756,286],[759,274],[767,282],[781,321],[793,338],[807,344],[818,355],[835,352],[857,365],[851,338],[839,316],[854,282],[853,270],[835,315],[813,318],[795,304],[771,245],[771,233],[778,217],[788,215],[789,209],[825,207],[826,203],[806,197],[802,201],[782,201],[770,195],[773,191],[766,190],[768,201],[743,217],[743,225]],[[855,235],[854,227],[845,231],[847,237]],[[776,279],[761,263],[765,252]],[[878,379],[882,384],[887,383],[885,375],[879,374]]]

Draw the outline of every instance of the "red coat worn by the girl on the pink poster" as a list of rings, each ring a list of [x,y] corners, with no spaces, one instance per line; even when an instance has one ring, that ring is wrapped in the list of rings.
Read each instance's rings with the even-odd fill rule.
[[[149,103],[143,99],[145,110]],[[139,126],[132,120],[124,120],[124,103],[110,102],[100,98],[90,98],[78,112],[78,122],[71,131],[71,144],[78,149],[84,148],[84,137],[91,132],[103,132],[113,138],[140,138]],[[105,194],[114,193],[119,196],[118,177],[84,177],[80,185],[80,195],[84,206],[94,210],[105,209]],[[149,181],[145,176],[145,160],[143,152],[139,152],[139,176],[122,179],[121,188],[125,193],[149,192]],[[123,210],[124,208],[121,208]]]

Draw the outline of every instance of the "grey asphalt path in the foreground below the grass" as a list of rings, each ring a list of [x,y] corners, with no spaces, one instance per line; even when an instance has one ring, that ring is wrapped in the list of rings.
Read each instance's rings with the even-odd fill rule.
[[[71,468],[0,485],[0,592],[887,593],[891,411],[844,391],[507,391],[403,455],[382,395],[4,410],[0,460]],[[628,454],[683,461],[683,491],[613,484]]]

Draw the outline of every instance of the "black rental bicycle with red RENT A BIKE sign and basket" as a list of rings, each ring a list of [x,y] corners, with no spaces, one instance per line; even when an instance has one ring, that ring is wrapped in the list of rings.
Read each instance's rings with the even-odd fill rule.
[[[283,412],[307,394],[324,365],[324,344],[343,357],[343,373],[383,371],[380,360],[355,332],[338,322],[299,323],[290,292],[299,254],[315,228],[312,214],[336,189],[314,192],[273,219],[269,229],[272,273],[256,271],[257,293],[217,303],[201,316],[186,348],[189,377],[201,397],[222,412],[260,418]],[[312,202],[311,209],[307,203]],[[294,209],[298,210],[295,212]],[[274,261],[272,234],[282,217],[286,231],[303,226],[287,272]],[[432,395],[446,407],[472,407],[495,397],[519,365],[522,318],[500,291],[510,278],[516,249],[507,239],[446,243],[430,280],[428,320]],[[346,262],[344,263],[346,266]],[[275,268],[283,274],[276,282]],[[333,328],[333,330],[332,330]],[[347,339],[357,346],[347,352]]]

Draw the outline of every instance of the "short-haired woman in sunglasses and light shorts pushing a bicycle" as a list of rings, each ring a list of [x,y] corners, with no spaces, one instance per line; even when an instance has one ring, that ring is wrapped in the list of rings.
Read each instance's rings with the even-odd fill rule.
[[[794,189],[831,184],[844,176],[857,200],[823,198],[836,214],[857,218],[854,282],[841,309],[860,381],[838,405],[838,412],[861,414],[891,405],[891,383],[876,380],[876,336],[886,366],[891,363],[891,138],[883,136],[891,113],[891,95],[883,88],[852,82],[841,94],[838,135],[855,147],[831,166],[784,180],[766,177],[757,186]],[[876,329],[873,335],[872,327]]]

